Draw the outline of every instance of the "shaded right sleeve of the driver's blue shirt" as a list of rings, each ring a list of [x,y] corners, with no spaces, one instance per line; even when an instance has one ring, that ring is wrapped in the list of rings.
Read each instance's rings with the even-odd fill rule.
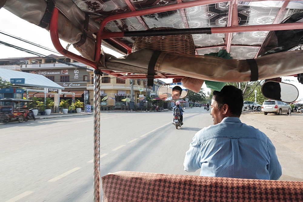
[[[269,177],[271,180],[278,180],[282,175],[282,169],[278,161],[278,157],[276,155],[275,146],[272,144],[269,138],[268,138],[268,155],[270,158],[270,162],[267,165]]]

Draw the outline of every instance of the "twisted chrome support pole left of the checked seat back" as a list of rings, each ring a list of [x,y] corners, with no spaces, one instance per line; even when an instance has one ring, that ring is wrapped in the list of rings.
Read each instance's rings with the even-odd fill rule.
[[[94,70],[94,201],[100,201],[100,75]]]

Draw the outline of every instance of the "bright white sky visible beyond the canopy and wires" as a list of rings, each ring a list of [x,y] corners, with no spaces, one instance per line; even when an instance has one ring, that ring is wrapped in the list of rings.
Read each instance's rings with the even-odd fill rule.
[[[50,34],[48,31],[46,31],[43,28],[38,27],[35,24],[31,24],[16,15],[12,14],[11,12],[7,11],[5,8],[0,9],[0,31],[6,32],[8,34],[14,35],[16,37],[25,39],[27,41],[31,41],[35,44],[39,44],[41,46],[47,47],[49,49],[55,50],[55,47],[52,44]],[[35,51],[40,54],[44,55],[60,55],[58,53],[54,53],[49,50],[44,50],[40,47],[36,47],[34,45],[28,44],[26,42],[14,39],[12,37],[6,36],[4,34],[0,33],[0,41],[13,44],[18,47],[22,47],[28,50]],[[63,47],[66,47],[67,43],[60,40]],[[122,55],[111,51],[110,49],[103,47],[105,52],[108,52],[116,57],[121,57]],[[75,50],[72,46],[69,47],[69,51],[78,54],[78,51]],[[56,51],[56,50],[55,50]],[[29,54],[26,52],[23,52],[21,50],[17,50],[12,47],[7,47],[2,44],[0,44],[0,58],[10,58],[10,57],[34,57],[36,55]],[[291,83],[295,85],[299,90],[299,97],[297,100],[303,99],[303,84],[298,83],[296,77],[282,77],[282,80],[288,79],[293,80],[291,82],[287,81],[287,83]],[[167,83],[171,82],[171,79],[168,81],[165,81]],[[204,93],[207,93],[210,91],[209,88],[206,87],[205,83],[202,85],[202,88],[204,89]]]

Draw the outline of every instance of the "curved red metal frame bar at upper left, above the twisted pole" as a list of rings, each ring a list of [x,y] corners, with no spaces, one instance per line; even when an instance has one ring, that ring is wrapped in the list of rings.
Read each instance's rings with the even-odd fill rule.
[[[52,43],[54,44],[54,47],[56,48],[56,50],[58,50],[60,54],[72,58],[83,64],[87,64],[88,66],[93,67],[94,69],[97,69],[97,64],[95,62],[88,60],[84,57],[81,57],[79,55],[76,55],[62,47],[58,35],[58,9],[57,8],[54,8],[53,15],[49,23],[49,32],[51,35]]]

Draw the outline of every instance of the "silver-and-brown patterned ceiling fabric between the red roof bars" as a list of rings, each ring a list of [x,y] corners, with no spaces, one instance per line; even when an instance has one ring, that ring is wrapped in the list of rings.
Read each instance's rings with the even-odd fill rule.
[[[75,4],[92,18],[100,15],[114,15],[122,12],[131,12],[132,9],[142,10],[157,8],[165,5],[177,4],[177,0],[129,0],[133,8],[130,8],[123,0],[73,0]],[[193,0],[182,0],[182,2],[192,2]],[[240,26],[272,24],[285,1],[258,1],[248,2],[239,1],[238,23]],[[148,28],[170,27],[170,28],[207,28],[207,27],[226,27],[228,23],[228,11],[230,2],[221,2],[209,5],[201,5],[185,8],[186,18],[182,18],[180,10],[158,12],[140,16]],[[298,1],[291,1],[282,14],[280,23],[284,18],[302,11],[303,4]],[[106,31],[143,31],[146,28],[138,21],[137,17],[118,19],[105,25]],[[233,33],[231,40],[230,53],[235,59],[254,58],[258,47],[261,46],[268,31],[239,32]],[[226,45],[225,33],[218,34],[193,34],[198,54],[208,54],[210,51],[218,52]],[[123,43],[132,47],[135,37],[120,37]],[[221,46],[214,47],[212,46]],[[245,47],[247,46],[247,47]],[[253,47],[250,47],[253,46]]]

